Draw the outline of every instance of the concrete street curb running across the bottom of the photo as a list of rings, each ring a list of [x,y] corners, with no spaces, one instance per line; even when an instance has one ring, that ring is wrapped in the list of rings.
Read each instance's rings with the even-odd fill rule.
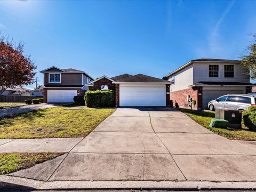
[[[38,181],[0,176],[0,191],[10,190],[256,190],[256,181]]]

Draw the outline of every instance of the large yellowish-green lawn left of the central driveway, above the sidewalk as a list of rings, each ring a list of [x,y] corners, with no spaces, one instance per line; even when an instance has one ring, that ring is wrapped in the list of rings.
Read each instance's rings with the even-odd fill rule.
[[[54,107],[2,118],[0,139],[85,137],[115,111],[86,107],[83,110],[65,110],[70,107]],[[42,127],[42,131],[36,131],[38,127]]]

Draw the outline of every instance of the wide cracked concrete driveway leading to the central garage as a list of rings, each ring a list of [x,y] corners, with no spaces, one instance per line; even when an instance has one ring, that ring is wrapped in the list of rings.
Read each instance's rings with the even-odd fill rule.
[[[172,108],[118,108],[68,154],[10,174],[41,181],[255,181],[256,150]]]

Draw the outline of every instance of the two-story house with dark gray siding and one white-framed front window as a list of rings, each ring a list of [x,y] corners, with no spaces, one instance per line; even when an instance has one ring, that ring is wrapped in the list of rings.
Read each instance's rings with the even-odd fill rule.
[[[74,96],[84,95],[85,84],[94,80],[84,71],[54,66],[40,73],[44,74],[44,102],[74,102]]]

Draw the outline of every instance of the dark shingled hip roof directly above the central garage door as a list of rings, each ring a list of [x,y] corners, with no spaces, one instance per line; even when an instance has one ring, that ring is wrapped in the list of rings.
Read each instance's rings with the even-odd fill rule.
[[[151,77],[143,74],[133,75],[130,77],[126,77],[120,79],[119,81],[115,81],[114,83],[166,83],[172,84],[172,82],[166,81],[164,79],[159,79],[156,77]]]

